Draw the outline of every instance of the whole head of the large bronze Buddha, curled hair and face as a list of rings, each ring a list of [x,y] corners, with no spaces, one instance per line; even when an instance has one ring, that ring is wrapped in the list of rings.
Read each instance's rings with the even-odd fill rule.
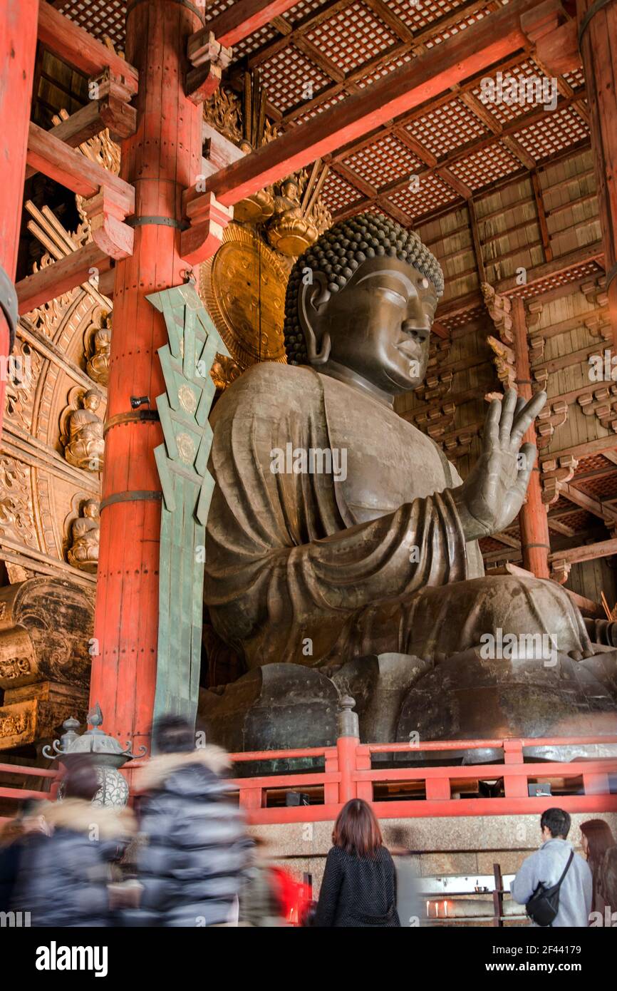
[[[443,291],[437,259],[413,232],[369,213],[335,224],[289,276],[287,361],[345,369],[388,395],[416,388]]]

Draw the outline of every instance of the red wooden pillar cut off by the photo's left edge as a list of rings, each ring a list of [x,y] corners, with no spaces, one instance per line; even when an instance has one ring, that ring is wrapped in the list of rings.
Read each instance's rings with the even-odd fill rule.
[[[5,0],[0,17],[0,430],[17,315],[13,288],[24,199],[39,0]]]

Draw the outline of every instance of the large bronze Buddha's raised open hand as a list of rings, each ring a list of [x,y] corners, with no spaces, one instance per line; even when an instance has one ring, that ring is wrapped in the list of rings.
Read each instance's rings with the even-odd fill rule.
[[[491,402],[482,453],[463,485],[453,491],[465,540],[503,530],[521,508],[537,454],[533,444],[521,447],[521,440],[546,401],[546,392],[525,402],[508,389],[503,400]]]

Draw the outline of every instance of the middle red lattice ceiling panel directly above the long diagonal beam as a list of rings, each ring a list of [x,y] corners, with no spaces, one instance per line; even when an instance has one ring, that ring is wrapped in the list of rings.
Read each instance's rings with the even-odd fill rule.
[[[363,3],[346,7],[305,37],[345,72],[352,72],[400,41]]]

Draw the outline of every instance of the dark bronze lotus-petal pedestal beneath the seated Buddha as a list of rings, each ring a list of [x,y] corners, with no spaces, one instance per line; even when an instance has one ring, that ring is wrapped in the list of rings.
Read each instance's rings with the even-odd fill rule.
[[[432,664],[409,654],[373,654],[321,669],[267,664],[223,688],[202,691],[208,741],[234,752],[331,746],[341,698],[356,701],[362,742],[409,741],[410,763],[448,757],[500,760],[500,748],[437,754],[422,742],[504,737],[617,735],[617,650],[574,661],[486,659],[479,648]],[[588,753],[587,753],[588,749]],[[598,755],[597,746],[541,744],[532,759]]]

